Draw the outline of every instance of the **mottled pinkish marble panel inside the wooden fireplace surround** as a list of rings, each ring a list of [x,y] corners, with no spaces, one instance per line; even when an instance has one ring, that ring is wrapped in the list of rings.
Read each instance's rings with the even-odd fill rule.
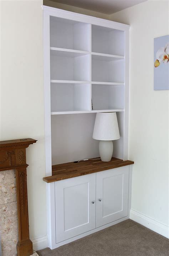
[[[0,237],[2,256],[17,255],[18,223],[15,171],[0,171]],[[38,256],[34,252],[33,256]]]

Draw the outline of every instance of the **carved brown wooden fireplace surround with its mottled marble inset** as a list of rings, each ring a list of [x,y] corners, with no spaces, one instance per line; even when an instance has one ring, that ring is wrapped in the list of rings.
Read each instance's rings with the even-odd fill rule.
[[[0,237],[2,256],[33,254],[29,239],[26,148],[34,139],[0,141]],[[16,252],[17,244],[17,252]],[[1,250],[0,250],[1,255]]]

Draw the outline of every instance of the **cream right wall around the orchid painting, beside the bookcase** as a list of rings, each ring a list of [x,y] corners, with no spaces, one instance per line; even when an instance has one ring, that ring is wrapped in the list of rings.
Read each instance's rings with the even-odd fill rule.
[[[164,225],[169,221],[169,91],[153,90],[153,40],[169,34],[168,18],[168,1],[147,1],[111,15],[111,20],[131,25],[129,159],[134,160],[132,209]]]

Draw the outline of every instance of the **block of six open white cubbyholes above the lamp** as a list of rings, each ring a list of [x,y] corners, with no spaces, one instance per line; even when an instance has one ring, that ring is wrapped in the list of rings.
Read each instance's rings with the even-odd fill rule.
[[[124,111],[124,31],[56,16],[49,23],[51,115]]]

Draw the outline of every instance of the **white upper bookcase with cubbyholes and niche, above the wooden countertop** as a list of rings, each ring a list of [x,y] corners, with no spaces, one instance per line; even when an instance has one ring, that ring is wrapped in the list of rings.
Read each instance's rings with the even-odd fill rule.
[[[113,156],[128,159],[129,25],[43,6],[46,174],[98,157],[96,112],[117,112]]]

